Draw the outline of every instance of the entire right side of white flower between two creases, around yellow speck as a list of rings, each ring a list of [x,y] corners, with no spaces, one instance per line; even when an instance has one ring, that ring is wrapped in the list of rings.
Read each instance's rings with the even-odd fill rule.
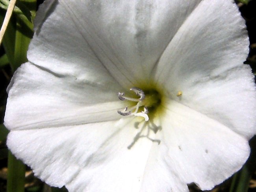
[[[250,138],[256,133],[256,92],[250,67],[243,66],[248,45],[236,4],[204,0],[163,53],[156,79],[172,99]]]

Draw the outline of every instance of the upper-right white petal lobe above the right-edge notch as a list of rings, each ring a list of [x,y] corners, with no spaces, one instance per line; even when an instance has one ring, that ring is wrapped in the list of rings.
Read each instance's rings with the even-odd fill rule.
[[[204,0],[163,53],[156,79],[168,83],[218,76],[241,66],[249,52],[245,20],[232,0]]]

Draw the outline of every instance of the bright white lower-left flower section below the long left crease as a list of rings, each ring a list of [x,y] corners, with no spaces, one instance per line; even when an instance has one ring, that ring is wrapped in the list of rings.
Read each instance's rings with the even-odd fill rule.
[[[152,142],[142,138],[128,150],[134,121],[11,131],[7,146],[51,186],[70,192],[139,191]]]

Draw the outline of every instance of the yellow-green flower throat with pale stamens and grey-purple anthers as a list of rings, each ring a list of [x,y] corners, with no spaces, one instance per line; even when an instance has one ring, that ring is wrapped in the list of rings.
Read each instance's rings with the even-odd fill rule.
[[[145,121],[148,121],[148,115],[154,113],[156,107],[160,105],[160,94],[156,90],[143,91],[137,87],[132,87],[130,90],[132,90],[135,95],[139,96],[139,98],[127,97],[124,96],[123,92],[119,92],[118,98],[122,101],[126,100],[131,102],[131,107],[126,106],[123,110],[117,111],[117,113],[123,116],[141,116]]]

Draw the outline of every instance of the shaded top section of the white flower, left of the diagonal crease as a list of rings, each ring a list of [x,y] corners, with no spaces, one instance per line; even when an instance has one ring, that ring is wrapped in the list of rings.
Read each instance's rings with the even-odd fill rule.
[[[44,4],[38,11],[28,59],[56,73],[108,71],[130,88],[148,80],[163,50],[200,1],[47,2],[50,6]]]

